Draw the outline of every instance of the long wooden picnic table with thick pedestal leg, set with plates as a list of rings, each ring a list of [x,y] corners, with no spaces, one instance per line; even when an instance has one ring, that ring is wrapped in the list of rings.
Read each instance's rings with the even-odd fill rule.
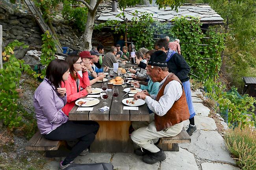
[[[129,67],[129,66],[128,66]],[[115,74],[114,78],[117,76]],[[127,84],[128,85],[128,84]],[[95,83],[92,87],[102,87],[102,83]],[[126,86],[127,87],[127,86]],[[128,85],[128,87],[132,87]],[[113,102],[113,89],[119,90],[117,96],[118,102]],[[123,110],[122,99],[129,98],[128,94],[122,97],[121,85],[113,85],[111,92],[108,92],[107,106],[109,110],[101,112],[98,109],[105,106],[102,104],[104,99],[98,98],[100,103],[93,106],[92,111],[76,111],[78,106],[74,106],[69,112],[69,120],[93,120],[99,123],[100,129],[96,134],[95,141],[90,147],[91,152],[134,152],[132,140],[130,139],[128,129],[131,121],[149,121],[147,104],[139,106],[139,110]]]

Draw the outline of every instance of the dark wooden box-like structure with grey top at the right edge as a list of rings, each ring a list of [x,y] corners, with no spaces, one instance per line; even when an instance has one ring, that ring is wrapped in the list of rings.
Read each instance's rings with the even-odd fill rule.
[[[249,94],[249,96],[256,97],[256,77],[243,77],[245,81],[245,87],[243,89],[244,94]]]

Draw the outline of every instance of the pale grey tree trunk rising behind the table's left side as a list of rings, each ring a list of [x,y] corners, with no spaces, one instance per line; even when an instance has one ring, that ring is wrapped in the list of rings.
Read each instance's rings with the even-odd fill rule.
[[[96,6],[96,4],[96,0],[90,0],[90,6],[93,9],[96,9],[98,7],[98,5]],[[83,50],[90,51],[92,49],[91,38],[93,36],[95,14],[96,10],[88,10],[87,22],[85,25],[85,31],[83,33]]]

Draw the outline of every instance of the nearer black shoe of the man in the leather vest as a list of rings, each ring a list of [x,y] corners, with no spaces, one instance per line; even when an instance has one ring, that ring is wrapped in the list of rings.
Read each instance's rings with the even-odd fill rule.
[[[143,160],[143,162],[145,162],[147,164],[154,164],[154,163],[157,163],[158,161],[165,160],[165,158],[166,158],[165,153],[163,152],[162,149],[160,149],[159,152],[150,153],[150,154],[143,156],[142,160]]]

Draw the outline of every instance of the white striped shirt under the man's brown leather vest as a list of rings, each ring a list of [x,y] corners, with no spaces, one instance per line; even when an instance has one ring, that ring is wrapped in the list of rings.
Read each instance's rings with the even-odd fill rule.
[[[171,73],[170,73],[171,74]],[[163,86],[167,76],[161,81],[159,90]],[[173,107],[173,103],[177,101],[182,96],[182,85],[180,82],[173,80],[170,81],[163,91],[163,96],[160,97],[159,101],[156,101],[155,95],[150,95],[145,98],[145,102],[148,105],[148,108],[152,110],[158,116],[165,115],[168,110]]]

